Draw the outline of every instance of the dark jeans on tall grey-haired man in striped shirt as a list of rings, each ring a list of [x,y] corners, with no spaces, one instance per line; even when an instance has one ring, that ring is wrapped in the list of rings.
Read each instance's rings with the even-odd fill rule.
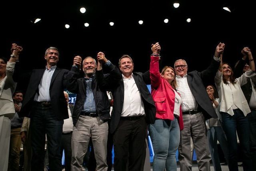
[[[44,168],[45,134],[49,155],[49,168],[52,171],[61,171],[60,142],[62,136],[63,120],[58,120],[52,112],[52,107],[32,106],[31,111],[31,146],[32,171],[42,171]]]

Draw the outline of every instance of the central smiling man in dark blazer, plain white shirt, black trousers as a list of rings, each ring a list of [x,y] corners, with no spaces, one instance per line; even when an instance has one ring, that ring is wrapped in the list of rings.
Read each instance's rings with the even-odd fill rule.
[[[110,125],[114,139],[114,170],[126,171],[128,164],[129,171],[143,171],[147,124],[154,123],[156,108],[144,82],[145,75],[133,73],[132,58],[123,55],[119,59],[119,68],[122,79],[111,89],[114,99]],[[103,73],[96,72],[96,75],[99,83],[106,82]]]

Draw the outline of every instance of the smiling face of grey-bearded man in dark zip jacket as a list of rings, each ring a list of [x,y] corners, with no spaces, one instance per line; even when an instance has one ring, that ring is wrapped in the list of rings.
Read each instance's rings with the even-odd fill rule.
[[[96,72],[96,62],[92,57],[87,57],[83,61],[83,71],[85,74],[85,77],[90,78],[92,77]]]

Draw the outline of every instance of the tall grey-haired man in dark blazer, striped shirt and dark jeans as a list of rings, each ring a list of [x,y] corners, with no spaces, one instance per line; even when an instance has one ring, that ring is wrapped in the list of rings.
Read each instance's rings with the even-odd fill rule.
[[[34,69],[29,73],[22,73],[22,65],[16,62],[13,79],[15,82],[28,83],[19,115],[31,118],[32,171],[40,171],[44,167],[45,134],[48,140],[49,167],[53,171],[61,171],[62,125],[63,119],[68,118],[63,91],[68,70],[56,67],[59,60],[56,47],[49,47],[44,58],[46,68]]]

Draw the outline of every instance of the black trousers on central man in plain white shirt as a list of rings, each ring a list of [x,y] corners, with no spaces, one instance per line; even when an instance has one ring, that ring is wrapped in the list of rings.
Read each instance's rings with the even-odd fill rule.
[[[120,120],[113,134],[114,170],[143,171],[146,154],[146,120]]]

